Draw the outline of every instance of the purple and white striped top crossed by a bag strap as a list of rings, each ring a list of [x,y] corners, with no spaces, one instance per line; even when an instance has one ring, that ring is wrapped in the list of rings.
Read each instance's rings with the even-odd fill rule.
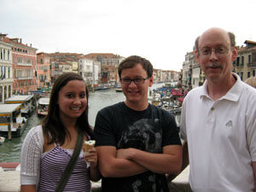
[[[59,145],[56,145],[55,148],[44,155],[41,160],[38,191],[55,191],[71,156],[72,154],[67,149],[61,148]],[[90,191],[89,168],[81,155],[73,168],[64,191]]]

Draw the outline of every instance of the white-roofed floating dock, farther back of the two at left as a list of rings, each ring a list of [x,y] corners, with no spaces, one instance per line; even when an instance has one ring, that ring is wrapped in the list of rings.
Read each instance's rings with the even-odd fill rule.
[[[11,96],[5,100],[7,104],[21,103],[21,116],[22,117],[30,117],[32,112],[36,108],[36,104],[33,100],[32,95],[28,96]]]

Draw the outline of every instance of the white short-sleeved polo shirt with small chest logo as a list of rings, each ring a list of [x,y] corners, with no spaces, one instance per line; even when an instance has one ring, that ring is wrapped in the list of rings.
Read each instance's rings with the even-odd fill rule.
[[[194,192],[251,192],[256,161],[256,89],[241,82],[217,101],[207,81],[183,102],[181,137],[189,146]]]

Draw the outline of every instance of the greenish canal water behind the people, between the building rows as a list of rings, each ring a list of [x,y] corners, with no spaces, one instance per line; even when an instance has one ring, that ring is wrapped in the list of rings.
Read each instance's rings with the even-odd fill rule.
[[[153,84],[151,89],[162,86],[163,84]],[[125,101],[125,96],[122,92],[113,90],[96,90],[89,94],[89,122],[90,125],[95,125],[96,113],[109,105],[117,102]],[[33,113],[32,117],[28,119],[26,130],[21,137],[13,138],[11,141],[8,139],[0,145],[0,162],[20,162],[20,150],[26,134],[30,129],[39,125],[42,118],[38,118],[37,113]]]

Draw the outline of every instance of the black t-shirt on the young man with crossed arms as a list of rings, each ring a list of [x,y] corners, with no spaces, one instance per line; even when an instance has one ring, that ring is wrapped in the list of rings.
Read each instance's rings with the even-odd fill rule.
[[[161,154],[166,145],[180,145],[177,125],[172,113],[148,105],[135,111],[119,102],[103,108],[96,116],[94,128],[97,146],[137,148]],[[143,172],[131,177],[103,177],[102,192],[167,192],[165,174]]]

